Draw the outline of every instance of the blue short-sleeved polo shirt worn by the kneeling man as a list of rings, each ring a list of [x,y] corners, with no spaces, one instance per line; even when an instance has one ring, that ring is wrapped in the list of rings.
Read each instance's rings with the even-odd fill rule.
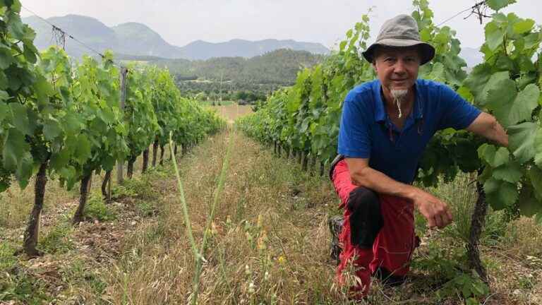
[[[385,111],[380,80],[363,83],[344,100],[338,152],[369,158],[369,166],[411,184],[423,150],[436,131],[468,127],[481,113],[447,85],[416,80],[414,108],[402,130]]]

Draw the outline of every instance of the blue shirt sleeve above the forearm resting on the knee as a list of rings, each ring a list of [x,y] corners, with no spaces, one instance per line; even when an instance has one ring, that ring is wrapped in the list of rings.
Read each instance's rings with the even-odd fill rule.
[[[344,100],[337,152],[345,157],[366,159],[371,156],[368,107],[362,106],[363,101],[358,94],[351,92]]]

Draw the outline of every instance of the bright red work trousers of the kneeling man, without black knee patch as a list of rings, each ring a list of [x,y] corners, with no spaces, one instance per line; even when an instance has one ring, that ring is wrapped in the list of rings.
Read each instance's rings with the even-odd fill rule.
[[[383,227],[376,236],[372,249],[361,249],[353,245],[350,239],[350,215],[347,202],[351,191],[357,186],[352,184],[347,163],[342,160],[335,166],[332,174],[333,185],[339,198],[340,208],[344,208],[344,225],[339,235],[342,252],[337,267],[339,283],[344,283],[342,270],[349,263],[354,264],[360,285],[351,287],[353,292],[366,295],[371,286],[371,274],[378,268],[385,268],[392,275],[403,276],[409,271],[409,262],[416,245],[414,234],[414,205],[404,198],[378,194]]]

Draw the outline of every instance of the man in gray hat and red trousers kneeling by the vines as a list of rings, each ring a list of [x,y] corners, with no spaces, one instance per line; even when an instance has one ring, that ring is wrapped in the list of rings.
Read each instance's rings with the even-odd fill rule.
[[[344,282],[342,270],[354,264],[361,280],[351,287],[355,297],[368,293],[371,275],[392,284],[404,279],[418,243],[414,208],[429,227],[452,222],[445,202],[411,185],[436,131],[466,128],[508,145],[493,116],[446,85],[417,79],[419,66],[434,55],[435,49],[420,41],[414,18],[387,20],[377,41],[363,52],[378,80],[357,86],[344,100],[331,178],[344,208],[337,276]]]

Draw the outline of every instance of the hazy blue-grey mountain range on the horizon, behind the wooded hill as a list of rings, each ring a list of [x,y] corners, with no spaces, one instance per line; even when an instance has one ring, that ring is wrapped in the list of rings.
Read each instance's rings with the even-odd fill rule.
[[[52,17],[47,21],[68,32],[98,52],[113,49],[115,53],[134,56],[157,56],[166,59],[210,59],[212,57],[241,56],[250,58],[263,55],[276,49],[303,50],[314,54],[327,54],[329,49],[322,44],[296,42],[294,40],[230,40],[229,42],[204,42],[197,40],[184,47],[166,42],[157,32],[142,23],[122,23],[112,28],[95,18],[78,15]],[[56,43],[52,28],[35,16],[23,18],[33,28],[37,37],[38,49],[46,49]],[[66,52],[79,58],[89,51],[77,42],[66,39]]]

